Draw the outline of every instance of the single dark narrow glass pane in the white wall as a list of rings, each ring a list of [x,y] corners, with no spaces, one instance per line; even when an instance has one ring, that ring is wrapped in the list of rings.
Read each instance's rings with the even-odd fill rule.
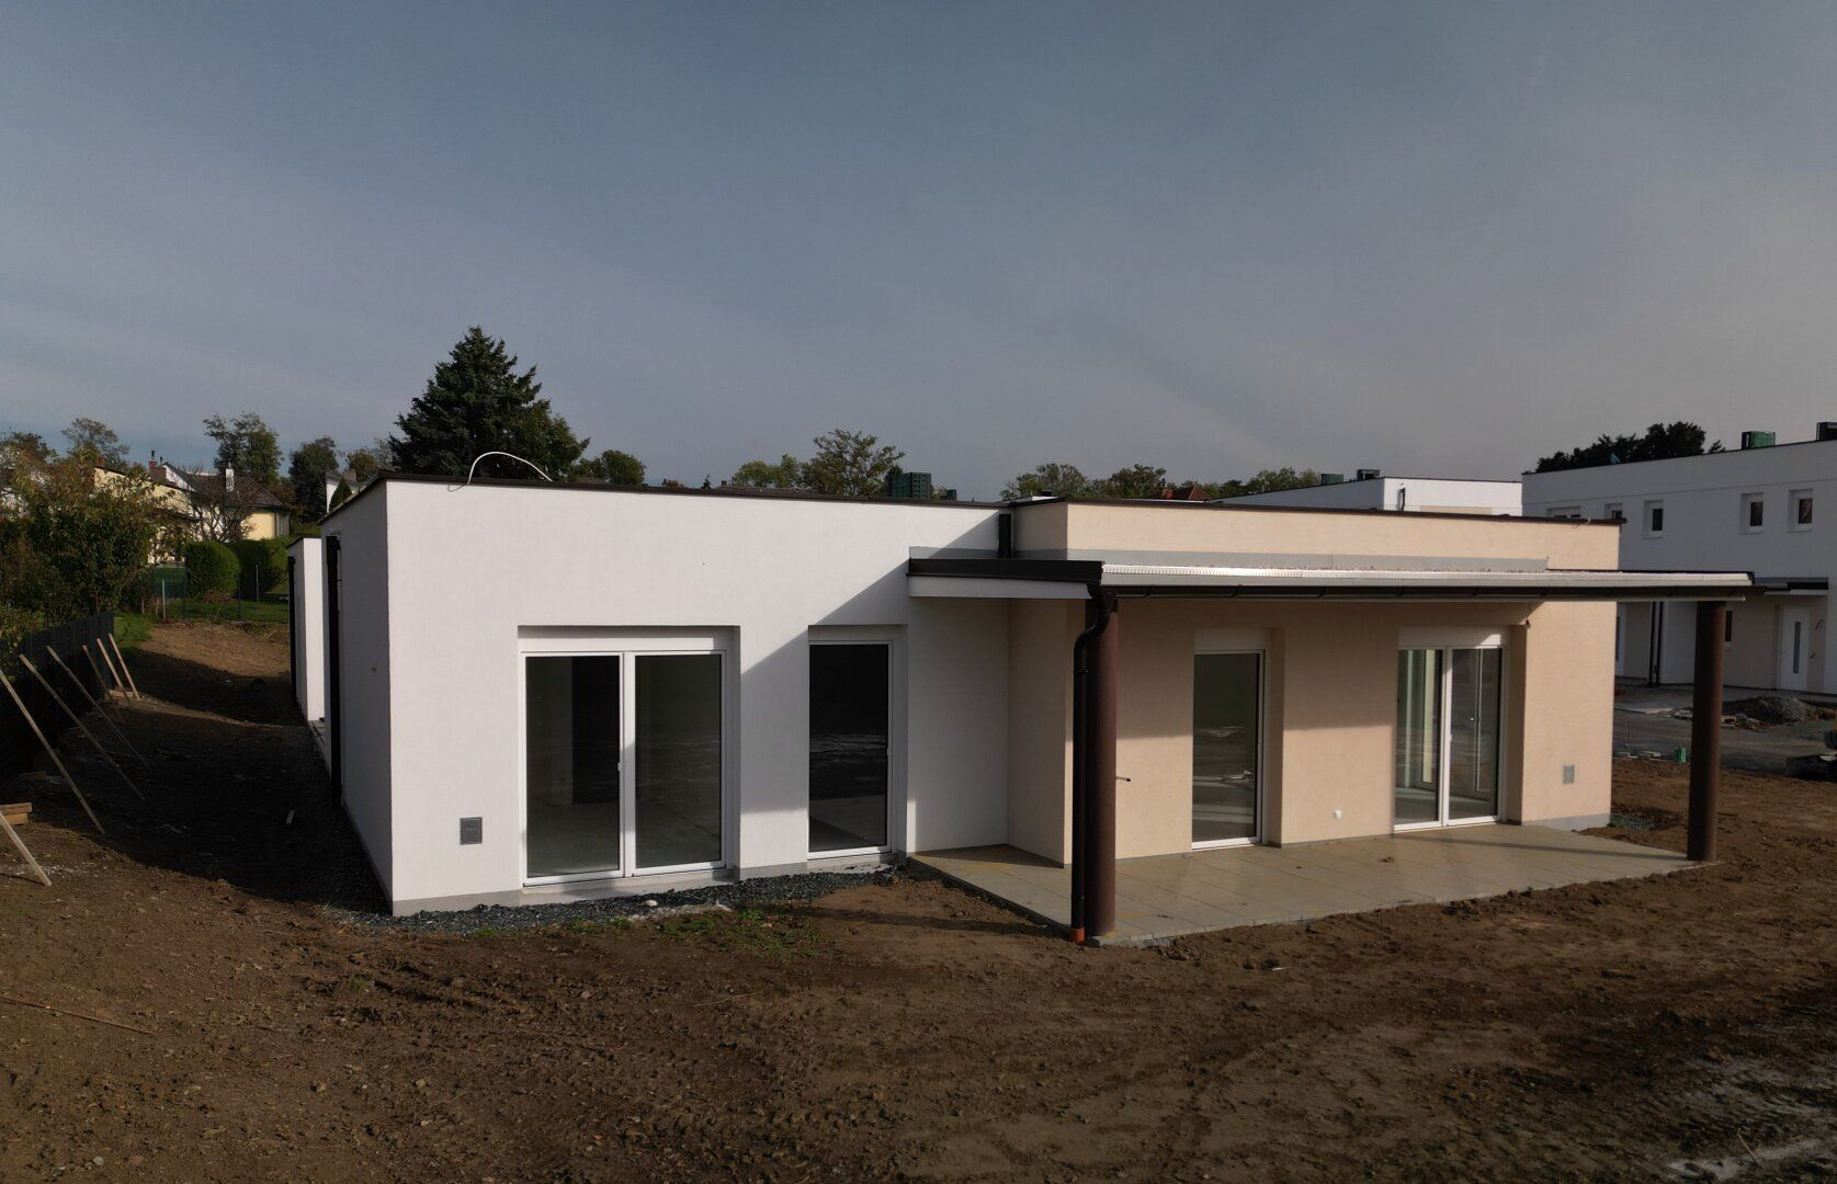
[[[885,642],[810,646],[810,850],[887,846]]]

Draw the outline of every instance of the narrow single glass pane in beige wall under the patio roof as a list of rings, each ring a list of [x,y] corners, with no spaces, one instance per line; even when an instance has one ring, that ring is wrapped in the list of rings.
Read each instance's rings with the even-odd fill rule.
[[[1192,657],[1192,841],[1257,839],[1262,655]]]

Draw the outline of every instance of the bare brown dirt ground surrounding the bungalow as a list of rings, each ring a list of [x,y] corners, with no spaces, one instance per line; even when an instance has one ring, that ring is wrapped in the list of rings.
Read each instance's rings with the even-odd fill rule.
[[[1650,881],[1073,949],[946,885],[443,936],[362,855],[285,639],[163,628],[0,863],[0,1178],[1804,1178],[1837,1171],[1837,791],[1734,773]],[[1681,848],[1685,771],[1617,769]],[[292,826],[285,824],[294,811]]]

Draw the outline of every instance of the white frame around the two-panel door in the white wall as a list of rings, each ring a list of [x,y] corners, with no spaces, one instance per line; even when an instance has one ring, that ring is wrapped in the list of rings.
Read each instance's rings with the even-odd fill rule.
[[[691,653],[720,655],[720,859],[637,866],[637,659]],[[619,866],[564,876],[529,874],[529,657],[619,659]],[[518,879],[525,888],[542,885],[619,883],[685,872],[722,872],[735,866],[738,843],[738,679],[727,630],[705,633],[671,630],[524,630],[516,641],[516,850]]]

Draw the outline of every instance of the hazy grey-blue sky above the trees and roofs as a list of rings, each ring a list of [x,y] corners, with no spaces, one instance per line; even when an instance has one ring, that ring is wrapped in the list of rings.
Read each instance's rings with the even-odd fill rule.
[[[1833,61],[1828,4],[0,2],[0,426],[356,444],[476,321],[685,481],[1802,439]]]

